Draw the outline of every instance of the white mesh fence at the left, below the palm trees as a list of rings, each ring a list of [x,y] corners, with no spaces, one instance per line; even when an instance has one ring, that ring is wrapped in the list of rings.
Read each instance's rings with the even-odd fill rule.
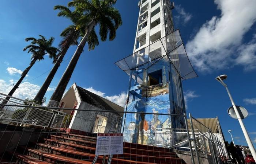
[[[65,113],[0,93],[0,123],[60,129]],[[23,107],[25,106],[25,107]],[[31,107],[30,107],[31,106]]]

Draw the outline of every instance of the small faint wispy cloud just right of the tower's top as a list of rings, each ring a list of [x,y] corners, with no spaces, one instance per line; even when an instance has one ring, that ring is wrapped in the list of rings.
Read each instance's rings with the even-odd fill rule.
[[[191,20],[192,15],[190,13],[185,12],[184,8],[181,7],[181,5],[175,6],[176,11],[178,12],[178,15],[174,16],[174,19],[176,20],[176,23],[186,24],[189,20]]]

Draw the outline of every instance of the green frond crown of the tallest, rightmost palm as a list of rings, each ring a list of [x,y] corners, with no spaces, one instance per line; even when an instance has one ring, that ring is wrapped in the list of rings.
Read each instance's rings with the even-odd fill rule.
[[[117,0],[73,0],[68,7],[84,14],[77,21],[77,28],[84,28],[91,20],[99,24],[99,35],[102,41],[114,40],[116,30],[122,24],[120,12],[113,7]],[[95,37],[95,36],[94,36]],[[89,45],[90,48],[90,45]]]

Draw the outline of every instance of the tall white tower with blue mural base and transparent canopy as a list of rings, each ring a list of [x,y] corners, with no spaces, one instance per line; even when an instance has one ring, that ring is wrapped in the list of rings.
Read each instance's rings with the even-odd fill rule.
[[[125,111],[135,112],[124,114],[124,141],[172,144],[170,128],[185,128],[184,117],[176,116],[185,113],[181,81],[197,75],[179,30],[174,31],[174,4],[141,0],[139,7],[133,54],[116,62],[130,77]]]

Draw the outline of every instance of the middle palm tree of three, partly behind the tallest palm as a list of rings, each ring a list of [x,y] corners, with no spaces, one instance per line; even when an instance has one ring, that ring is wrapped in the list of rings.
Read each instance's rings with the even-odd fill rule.
[[[38,102],[41,102],[42,99],[44,98],[44,95],[45,95],[48,87],[50,86],[50,83],[52,82],[52,79],[53,79],[54,75],[56,74],[56,72],[60,66],[60,63],[63,61],[63,58],[68,51],[68,48],[71,45],[78,45],[79,44],[77,42],[78,38],[80,36],[83,36],[83,34],[84,34],[85,27],[78,28],[76,26],[76,23],[78,22],[80,17],[83,15],[83,12],[80,12],[79,10],[71,11],[68,7],[61,6],[61,5],[56,5],[54,7],[54,9],[60,10],[60,12],[58,13],[57,16],[67,17],[68,19],[71,20],[71,22],[73,24],[68,26],[67,28],[65,28],[60,34],[60,36],[63,39],[61,40],[61,42],[59,44],[59,48],[61,50],[60,53],[58,54],[59,58],[57,58],[57,61],[55,62],[52,70],[50,71],[49,75],[45,79],[44,84],[41,86],[37,95],[35,95],[34,101],[38,101]],[[86,26],[86,25],[84,25],[84,26]],[[99,41],[98,41],[95,31],[92,32],[91,37],[88,40],[88,44],[89,44],[89,51],[93,50],[95,46],[99,45]]]

